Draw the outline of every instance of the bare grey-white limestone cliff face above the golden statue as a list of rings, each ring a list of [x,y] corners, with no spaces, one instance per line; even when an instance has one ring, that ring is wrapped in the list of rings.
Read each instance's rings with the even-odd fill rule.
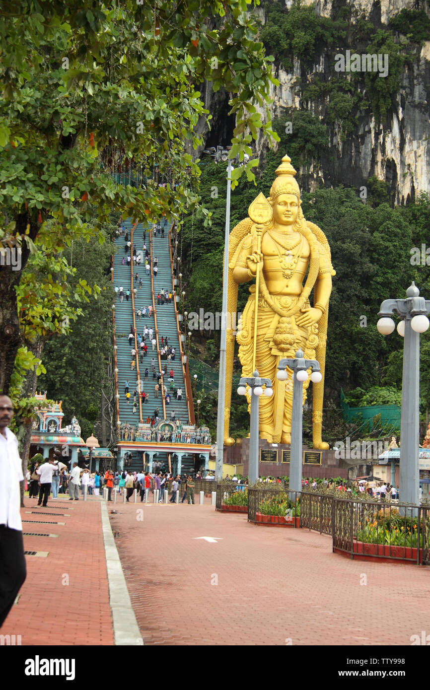
[[[292,0],[286,0],[289,8]],[[303,4],[311,4],[303,0]],[[333,0],[319,0],[315,12],[324,17],[335,19],[339,3]],[[420,9],[429,14],[427,2],[419,3]],[[373,23],[375,29],[387,28],[387,23],[403,8],[417,9],[415,1],[406,0],[344,0],[342,6],[351,6],[358,14]],[[264,23],[264,12],[260,8],[259,19]],[[344,52],[340,49],[340,52]],[[304,101],[303,84],[309,83],[309,75],[324,72],[329,79],[338,79],[333,62],[333,49],[324,47],[311,73],[295,59],[291,71],[286,71],[280,64],[273,63],[273,72],[280,85],[271,86],[271,117],[286,112],[286,108],[310,110],[314,116],[326,124],[326,112],[329,97],[316,97]],[[381,77],[383,78],[383,77]],[[413,63],[402,73],[400,90],[393,99],[391,109],[380,123],[369,110],[358,112],[358,128],[342,137],[341,124],[337,121],[327,126],[329,133],[329,150],[322,153],[319,161],[314,161],[306,171],[300,170],[300,184],[304,190],[313,190],[325,186],[344,184],[360,189],[366,186],[368,177],[375,175],[389,184],[390,198],[396,204],[404,204],[420,192],[430,193],[430,127],[429,127],[429,93],[430,93],[430,41],[416,50]],[[213,97],[217,97],[215,103]],[[223,125],[211,132],[207,145],[224,141],[226,120],[219,117],[219,106],[225,101],[219,95],[206,90],[206,105]],[[224,111],[225,112],[225,111]],[[215,139],[218,137],[218,141]],[[221,138],[219,138],[221,137]],[[260,159],[267,150],[266,142],[259,139],[256,152]],[[282,152],[284,153],[284,151]]]

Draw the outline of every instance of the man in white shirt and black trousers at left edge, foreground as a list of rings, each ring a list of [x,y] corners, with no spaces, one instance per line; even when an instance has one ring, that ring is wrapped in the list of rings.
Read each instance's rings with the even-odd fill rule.
[[[0,395],[0,628],[26,579],[26,558],[19,514],[23,481],[17,437],[8,429],[12,400]]]

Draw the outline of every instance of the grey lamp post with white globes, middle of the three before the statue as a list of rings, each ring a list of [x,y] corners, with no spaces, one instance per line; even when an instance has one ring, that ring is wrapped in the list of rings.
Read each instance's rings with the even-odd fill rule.
[[[316,359],[304,359],[303,351],[297,350],[295,359],[280,360],[277,379],[286,381],[286,367],[293,373],[293,412],[291,415],[291,451],[290,451],[290,491],[302,491],[302,428],[303,428],[303,382],[308,378],[308,369],[312,370],[311,381],[318,383],[322,379],[320,364]]]

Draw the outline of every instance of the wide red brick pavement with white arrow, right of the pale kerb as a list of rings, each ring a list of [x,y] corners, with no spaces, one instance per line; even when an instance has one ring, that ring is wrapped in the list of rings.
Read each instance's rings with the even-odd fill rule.
[[[408,645],[429,627],[430,567],[351,560],[327,535],[257,526],[207,503],[117,509],[110,522],[144,644]]]

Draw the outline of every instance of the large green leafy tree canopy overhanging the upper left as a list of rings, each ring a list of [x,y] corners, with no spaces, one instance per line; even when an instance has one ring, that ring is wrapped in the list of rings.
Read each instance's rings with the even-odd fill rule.
[[[111,209],[158,219],[197,204],[199,168],[184,146],[202,144],[204,79],[232,93],[232,156],[260,132],[275,137],[262,116],[276,80],[247,9],[246,0],[2,3],[0,246],[22,250],[20,270],[0,268],[3,391],[21,344],[14,288],[37,238],[56,254],[78,237],[103,241]],[[139,166],[146,184],[115,184],[118,160]]]

